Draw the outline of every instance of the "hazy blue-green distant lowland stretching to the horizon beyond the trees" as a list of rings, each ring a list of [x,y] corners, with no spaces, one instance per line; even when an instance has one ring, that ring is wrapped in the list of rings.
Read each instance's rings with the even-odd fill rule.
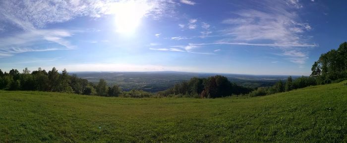
[[[105,79],[110,86],[117,84],[123,90],[139,89],[147,92],[164,91],[175,84],[187,81],[192,77],[207,78],[217,73],[189,73],[189,72],[74,72],[78,77],[97,83]],[[258,88],[272,86],[279,80],[286,80],[288,76],[271,75],[240,75],[218,74],[226,76],[231,82],[238,85]],[[298,76],[293,76],[297,78]]]

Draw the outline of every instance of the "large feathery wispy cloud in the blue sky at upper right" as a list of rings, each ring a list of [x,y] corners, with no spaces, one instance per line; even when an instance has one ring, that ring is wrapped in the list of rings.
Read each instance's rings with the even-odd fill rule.
[[[289,54],[289,51],[302,50],[296,47],[318,46],[307,43],[309,37],[305,37],[305,32],[310,31],[311,26],[301,22],[296,13],[297,9],[303,7],[299,0],[264,0],[255,4],[262,8],[243,9],[234,12],[237,17],[222,21],[231,25],[223,30],[223,33],[231,38],[218,44],[278,47],[283,50],[283,55],[289,58],[297,57]],[[259,41],[267,43],[257,43]],[[289,61],[304,64],[307,54],[302,56],[300,60]]]

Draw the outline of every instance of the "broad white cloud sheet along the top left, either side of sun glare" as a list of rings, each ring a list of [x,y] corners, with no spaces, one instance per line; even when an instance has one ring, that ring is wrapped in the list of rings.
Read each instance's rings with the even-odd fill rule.
[[[10,21],[24,30],[42,28],[50,23],[65,22],[79,16],[99,18],[116,14],[115,6],[125,0],[2,0],[1,20]],[[133,0],[145,3],[145,16],[158,18],[174,13],[173,0]],[[20,9],[20,10],[19,10]]]

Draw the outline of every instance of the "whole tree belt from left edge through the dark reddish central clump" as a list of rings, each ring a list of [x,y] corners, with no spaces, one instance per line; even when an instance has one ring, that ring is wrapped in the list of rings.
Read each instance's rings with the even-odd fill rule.
[[[99,83],[93,84],[86,79],[70,76],[66,69],[61,73],[54,67],[50,71],[38,68],[30,71],[25,68],[21,73],[12,69],[9,73],[0,69],[0,90],[10,91],[44,91],[74,93],[80,95],[121,96],[121,97],[201,97],[216,98],[230,95],[247,94],[252,89],[231,83],[224,76],[209,78],[191,78],[189,81],[176,84],[163,92],[149,93],[142,90],[122,91],[118,85],[108,86],[107,82],[100,79]]]

